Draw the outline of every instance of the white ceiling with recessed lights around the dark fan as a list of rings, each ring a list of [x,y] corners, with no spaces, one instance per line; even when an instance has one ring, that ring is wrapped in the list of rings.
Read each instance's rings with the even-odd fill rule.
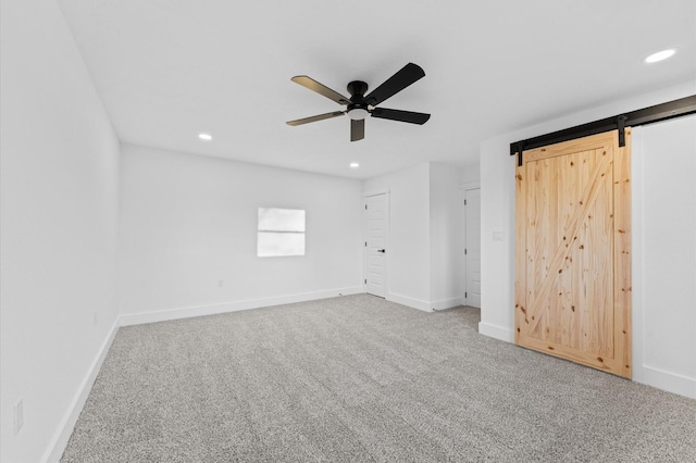
[[[355,178],[476,164],[492,136],[696,80],[694,0],[58,3],[122,141]],[[346,95],[408,62],[426,76],[382,105],[425,125],[369,118],[350,142],[347,116],[285,124],[343,109],[290,77]]]

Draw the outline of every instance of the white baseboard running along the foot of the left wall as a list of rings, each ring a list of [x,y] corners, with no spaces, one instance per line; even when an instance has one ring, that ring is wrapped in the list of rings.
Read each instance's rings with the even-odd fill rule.
[[[99,353],[97,358],[92,362],[87,372],[87,376],[83,379],[79,388],[77,389],[77,393],[73,398],[73,402],[70,404],[67,413],[61,421],[60,426],[51,442],[48,446],[48,450],[44,454],[41,459],[45,463],[53,463],[60,462],[61,456],[63,456],[63,452],[65,451],[65,447],[67,447],[67,441],[73,434],[73,429],[75,429],[75,425],[77,424],[77,418],[79,418],[79,414],[87,402],[87,398],[89,397],[89,392],[91,391],[91,387],[97,379],[97,375],[99,375],[99,371],[101,370],[101,365],[104,363],[104,359],[107,358],[107,353],[109,353],[109,349],[111,349],[111,345],[116,337],[116,331],[119,331],[119,320],[114,322],[107,339],[101,345],[99,349]]]

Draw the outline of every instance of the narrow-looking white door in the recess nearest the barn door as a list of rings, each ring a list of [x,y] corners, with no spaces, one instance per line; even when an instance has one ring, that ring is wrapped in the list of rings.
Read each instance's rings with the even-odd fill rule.
[[[481,306],[481,189],[464,191],[465,245],[464,265],[467,281],[464,303]]]

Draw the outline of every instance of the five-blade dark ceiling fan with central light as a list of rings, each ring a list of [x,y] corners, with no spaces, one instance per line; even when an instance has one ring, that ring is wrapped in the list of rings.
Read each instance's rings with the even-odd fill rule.
[[[350,98],[346,98],[339,92],[332,90],[331,88],[318,83],[308,76],[295,76],[290,80],[296,84],[307,87],[312,91],[323,95],[347,107],[345,111],[334,111],[332,113],[319,114],[311,117],[298,118],[296,121],[288,121],[287,125],[302,125],[310,122],[323,121],[325,118],[338,117],[344,114],[348,114],[350,117],[350,141],[362,140],[365,137],[365,117],[371,115],[372,117],[388,118],[391,121],[408,122],[411,124],[425,124],[430,114],[414,113],[411,111],[389,110],[386,108],[375,108],[387,98],[390,98],[403,90],[415,80],[425,76],[425,72],[418,64],[408,63],[399,72],[386,79],[384,84],[365,95],[368,91],[368,84],[362,80],[353,80],[348,84],[348,92]]]

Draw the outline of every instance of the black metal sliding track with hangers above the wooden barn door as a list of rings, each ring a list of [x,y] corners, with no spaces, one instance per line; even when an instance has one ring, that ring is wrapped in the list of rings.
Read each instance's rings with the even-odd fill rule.
[[[654,122],[667,121],[688,114],[696,114],[696,95],[644,108],[613,117],[607,117],[571,128],[540,135],[526,140],[510,143],[510,155],[518,155],[518,165],[522,165],[522,151],[547,145],[560,143],[561,141],[574,140],[576,138],[601,134],[604,132],[619,130],[619,146],[625,146],[625,127],[636,127],[638,125],[651,124]]]

